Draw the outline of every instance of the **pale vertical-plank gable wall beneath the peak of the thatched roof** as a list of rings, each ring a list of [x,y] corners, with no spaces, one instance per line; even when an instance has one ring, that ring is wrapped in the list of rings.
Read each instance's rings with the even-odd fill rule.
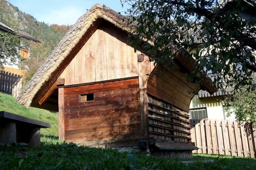
[[[65,78],[65,85],[73,85],[138,76],[137,52],[127,36],[103,22],[59,78]]]

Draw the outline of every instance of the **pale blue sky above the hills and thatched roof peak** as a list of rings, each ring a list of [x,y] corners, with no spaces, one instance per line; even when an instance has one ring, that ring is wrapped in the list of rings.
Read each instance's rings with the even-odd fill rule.
[[[120,0],[9,0],[20,11],[30,14],[40,22],[71,25],[94,4],[105,4],[117,12],[126,11]],[[122,14],[124,14],[122,12]]]

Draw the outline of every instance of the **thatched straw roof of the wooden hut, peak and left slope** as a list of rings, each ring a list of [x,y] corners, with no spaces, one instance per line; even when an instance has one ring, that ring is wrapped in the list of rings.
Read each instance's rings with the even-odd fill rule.
[[[126,27],[126,18],[111,8],[94,5],[90,10],[83,14],[67,32],[63,39],[58,43],[52,54],[41,65],[32,79],[28,82],[24,90],[17,97],[17,102],[29,107],[32,101],[36,101],[49,91],[60,74],[64,71],[74,54],[79,51],[77,44],[85,35],[92,34],[97,20],[107,20],[114,26],[130,32],[130,27]],[[94,25],[93,25],[94,24]],[[38,102],[38,101],[37,101]]]

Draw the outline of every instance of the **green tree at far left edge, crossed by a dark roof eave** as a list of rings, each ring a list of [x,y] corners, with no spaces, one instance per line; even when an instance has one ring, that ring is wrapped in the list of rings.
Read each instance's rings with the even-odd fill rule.
[[[0,0],[0,23],[13,30],[18,28],[17,20],[10,6],[6,6],[5,0]],[[19,57],[18,45],[18,35],[0,31],[0,67],[3,67],[5,64],[14,64],[17,61]]]

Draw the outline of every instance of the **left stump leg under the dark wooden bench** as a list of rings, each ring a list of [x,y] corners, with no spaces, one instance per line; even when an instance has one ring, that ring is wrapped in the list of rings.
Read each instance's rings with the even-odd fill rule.
[[[0,142],[16,142],[16,123],[11,122],[0,126]]]

